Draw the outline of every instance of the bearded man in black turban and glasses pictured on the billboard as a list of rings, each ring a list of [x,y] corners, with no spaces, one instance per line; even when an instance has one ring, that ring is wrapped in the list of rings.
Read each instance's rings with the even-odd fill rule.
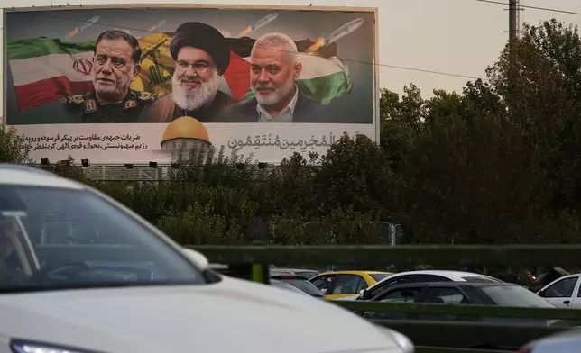
[[[171,95],[154,104],[152,122],[171,122],[180,116],[214,122],[235,103],[217,89],[230,63],[226,38],[208,24],[182,23],[173,33],[170,52],[176,62]]]

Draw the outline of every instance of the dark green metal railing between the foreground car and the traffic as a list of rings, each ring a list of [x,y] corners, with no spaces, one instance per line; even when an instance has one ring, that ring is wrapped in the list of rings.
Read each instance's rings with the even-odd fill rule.
[[[396,267],[530,266],[576,267],[581,246],[188,246],[203,253],[211,263],[231,266],[236,276],[268,283],[269,267],[277,264],[352,265],[357,269],[394,264]],[[410,337],[418,353],[484,353],[491,341],[509,339],[525,344],[553,332],[581,325],[581,310],[522,308],[484,305],[424,303],[370,303],[330,301],[356,312],[457,315],[466,320],[371,320]],[[506,321],[486,323],[475,318],[512,318],[567,321],[567,325],[531,325]],[[487,339],[483,339],[487,338]],[[431,342],[431,343],[430,343]]]

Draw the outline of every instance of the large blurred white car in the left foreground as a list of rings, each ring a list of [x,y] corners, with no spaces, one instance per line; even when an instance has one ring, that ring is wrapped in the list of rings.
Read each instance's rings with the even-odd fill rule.
[[[0,353],[413,352],[332,303],[220,276],[122,204],[39,169],[0,165],[0,223]]]

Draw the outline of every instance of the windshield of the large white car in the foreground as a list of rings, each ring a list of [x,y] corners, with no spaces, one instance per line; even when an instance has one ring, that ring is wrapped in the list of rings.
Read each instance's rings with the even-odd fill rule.
[[[0,186],[0,293],[204,282],[179,249],[96,193]]]

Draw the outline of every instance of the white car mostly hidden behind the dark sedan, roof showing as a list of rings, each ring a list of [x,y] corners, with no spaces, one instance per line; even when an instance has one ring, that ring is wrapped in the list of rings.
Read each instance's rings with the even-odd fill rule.
[[[359,292],[359,294],[345,296],[343,298],[339,298],[336,300],[339,301],[369,300],[373,298],[375,295],[383,292],[383,289],[387,288],[389,285],[395,284],[401,285],[407,283],[420,283],[420,282],[441,282],[441,281],[503,283],[503,281],[501,281],[500,279],[472,272],[447,271],[447,270],[406,271],[386,276],[385,278],[375,283],[374,285],[362,289]]]

